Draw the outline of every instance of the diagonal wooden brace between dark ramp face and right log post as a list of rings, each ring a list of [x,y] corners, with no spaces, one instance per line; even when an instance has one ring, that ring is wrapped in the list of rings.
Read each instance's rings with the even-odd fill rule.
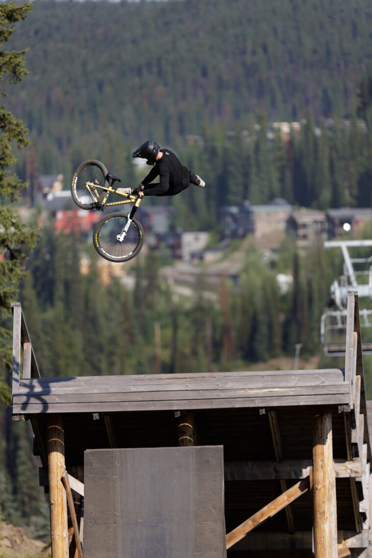
[[[305,492],[309,489],[310,477],[302,479],[298,483],[294,484],[293,487],[288,488],[288,490],[281,494],[281,496],[278,496],[278,498],[267,504],[267,506],[260,509],[259,512],[249,517],[238,527],[235,527],[233,531],[230,531],[230,533],[226,535],[226,548],[229,549],[231,546],[235,545],[236,542],[244,538],[245,535],[247,535],[255,527],[258,527],[261,523],[270,517],[273,517],[276,513],[288,506],[289,503],[296,500],[299,496],[302,496],[302,494],[305,494]]]

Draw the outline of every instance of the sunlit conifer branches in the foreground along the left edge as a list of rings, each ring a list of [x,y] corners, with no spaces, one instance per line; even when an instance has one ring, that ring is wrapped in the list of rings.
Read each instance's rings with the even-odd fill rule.
[[[14,2],[0,4],[0,47],[9,41],[15,31],[15,23],[24,20],[30,12],[32,3],[17,6]],[[9,84],[16,84],[27,73],[24,68],[26,50],[1,52],[0,60],[0,99],[6,97],[3,80],[8,76]],[[9,367],[11,355],[8,345],[9,334],[4,328],[3,319],[10,314],[10,304],[18,292],[18,285],[25,273],[24,262],[27,254],[35,245],[36,232],[21,224],[15,209],[9,204],[18,199],[21,190],[27,186],[18,177],[11,175],[9,167],[15,164],[12,143],[18,148],[25,147],[27,129],[4,105],[0,106],[0,364]],[[8,392],[9,393],[9,392]],[[0,378],[0,398],[9,402],[7,387]]]

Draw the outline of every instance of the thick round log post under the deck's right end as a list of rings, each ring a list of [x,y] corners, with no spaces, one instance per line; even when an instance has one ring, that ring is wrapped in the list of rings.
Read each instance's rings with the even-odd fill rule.
[[[332,415],[313,417],[313,533],[315,558],[337,558],[336,480]]]

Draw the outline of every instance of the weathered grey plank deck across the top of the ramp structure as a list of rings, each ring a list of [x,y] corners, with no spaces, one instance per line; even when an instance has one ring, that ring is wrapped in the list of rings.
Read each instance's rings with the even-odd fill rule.
[[[13,413],[350,405],[340,369],[21,379]]]

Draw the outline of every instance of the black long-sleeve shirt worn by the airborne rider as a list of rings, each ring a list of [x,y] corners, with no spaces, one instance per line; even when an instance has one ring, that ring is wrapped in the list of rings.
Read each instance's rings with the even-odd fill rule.
[[[190,185],[190,172],[184,167],[178,157],[168,149],[161,149],[161,159],[142,180],[144,196],[175,196]],[[149,184],[156,177],[160,177],[157,184]]]

